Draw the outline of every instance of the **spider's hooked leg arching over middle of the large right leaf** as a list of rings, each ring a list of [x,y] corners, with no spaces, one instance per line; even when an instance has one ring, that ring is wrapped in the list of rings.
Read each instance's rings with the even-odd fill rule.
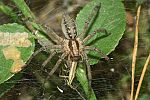
[[[106,35],[109,35],[110,33],[107,32],[106,29],[104,28],[99,28],[97,30],[95,30],[93,33],[89,34],[88,36],[86,36],[84,39],[83,39],[83,43],[85,43],[86,41],[88,41],[89,39],[91,39],[96,33],[98,32],[102,32],[102,33],[105,33]]]

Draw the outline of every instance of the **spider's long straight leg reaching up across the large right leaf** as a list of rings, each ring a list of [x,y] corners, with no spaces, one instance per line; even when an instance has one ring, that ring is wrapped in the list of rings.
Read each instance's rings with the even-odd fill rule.
[[[101,7],[101,4],[99,3],[93,8],[92,12],[90,13],[87,20],[85,21],[82,33],[79,35],[80,39],[82,39],[84,37],[84,35],[86,34],[86,32],[90,26],[90,22],[92,22],[95,19],[95,17],[97,16],[97,14],[99,12],[100,7]]]

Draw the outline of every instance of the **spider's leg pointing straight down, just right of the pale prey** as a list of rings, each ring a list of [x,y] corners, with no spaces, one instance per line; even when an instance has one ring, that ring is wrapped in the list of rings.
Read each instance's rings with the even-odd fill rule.
[[[87,56],[86,53],[83,54],[83,60],[85,61],[85,64],[86,64],[86,67],[87,67],[89,85],[91,86],[91,81],[92,81],[91,67],[90,67],[89,59],[88,59],[88,56]]]

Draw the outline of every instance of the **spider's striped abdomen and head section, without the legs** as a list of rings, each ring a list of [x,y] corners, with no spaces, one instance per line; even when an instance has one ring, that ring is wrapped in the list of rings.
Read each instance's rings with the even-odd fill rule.
[[[64,15],[61,26],[66,37],[63,42],[63,52],[66,52],[72,61],[77,61],[83,51],[83,43],[77,38],[75,21],[70,16]]]

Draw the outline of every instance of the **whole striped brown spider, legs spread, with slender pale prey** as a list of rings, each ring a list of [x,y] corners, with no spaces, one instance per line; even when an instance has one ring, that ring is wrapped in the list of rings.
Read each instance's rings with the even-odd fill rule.
[[[85,42],[91,39],[98,32],[103,32],[105,34],[108,34],[106,29],[99,28],[95,30],[93,33],[84,37],[88,28],[90,27],[90,23],[93,21],[94,18],[96,18],[97,14],[99,13],[100,7],[101,4],[97,4],[92,9],[91,13],[89,14],[84,24],[82,33],[79,35],[77,35],[77,29],[76,29],[77,27],[76,27],[75,20],[72,19],[67,13],[64,13],[61,22],[62,32],[65,38],[58,36],[51,29],[46,29],[47,30],[46,35],[48,35],[49,38],[52,41],[54,41],[56,44],[49,47],[47,46],[41,47],[39,50],[33,53],[33,56],[37,55],[39,52],[47,48],[50,48],[50,55],[42,64],[42,66],[45,66],[54,57],[55,54],[62,53],[59,60],[56,62],[55,66],[50,71],[49,76],[51,76],[57,70],[57,68],[59,67],[59,65],[64,59],[67,59],[67,66],[70,68],[69,76],[68,76],[68,85],[71,85],[74,79],[77,63],[81,59],[82,61],[84,61],[86,65],[89,84],[91,84],[92,75],[91,75],[91,68],[89,64],[89,58],[87,56],[87,51],[91,51],[91,50],[96,51],[100,55],[102,55],[106,60],[109,59],[98,48],[85,45]],[[31,27],[29,26],[30,25],[27,25],[27,27],[31,30]]]

